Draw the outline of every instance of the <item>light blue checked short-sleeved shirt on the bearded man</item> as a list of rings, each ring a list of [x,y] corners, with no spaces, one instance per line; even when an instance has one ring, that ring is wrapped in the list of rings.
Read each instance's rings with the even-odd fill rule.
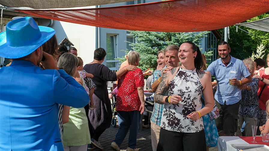
[[[237,80],[241,80],[250,75],[242,60],[231,57],[231,61],[226,67],[219,58],[208,66],[207,71],[216,77],[218,88],[214,98],[220,104],[224,105],[226,101],[226,105],[230,105],[241,100],[241,90],[237,86],[229,84],[229,77],[234,76]]]

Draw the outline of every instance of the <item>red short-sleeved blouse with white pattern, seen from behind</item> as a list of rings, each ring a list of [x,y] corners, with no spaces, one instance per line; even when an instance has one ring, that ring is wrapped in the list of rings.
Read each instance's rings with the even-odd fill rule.
[[[128,71],[118,79],[117,111],[139,110],[141,102],[137,88],[144,86],[144,76],[141,69]]]

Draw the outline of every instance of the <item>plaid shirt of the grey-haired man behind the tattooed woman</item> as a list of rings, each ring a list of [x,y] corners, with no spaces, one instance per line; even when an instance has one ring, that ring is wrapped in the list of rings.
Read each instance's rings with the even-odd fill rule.
[[[153,80],[152,80],[151,84],[154,81],[158,80],[158,78],[161,77],[161,76],[162,76],[162,71],[155,70],[153,72]],[[155,124],[157,124],[159,126],[161,125],[163,107],[164,107],[164,104],[154,103],[153,112],[152,112],[152,115],[151,115],[151,118],[150,118],[150,120],[152,122],[154,122]]]

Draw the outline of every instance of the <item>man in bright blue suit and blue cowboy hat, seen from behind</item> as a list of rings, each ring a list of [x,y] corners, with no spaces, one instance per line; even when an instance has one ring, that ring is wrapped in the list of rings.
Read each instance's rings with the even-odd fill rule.
[[[1,151],[63,150],[58,104],[80,108],[89,103],[83,86],[43,52],[41,45],[54,34],[32,17],[10,21],[0,33],[0,56],[13,59],[0,69]],[[36,66],[40,62],[46,70]]]

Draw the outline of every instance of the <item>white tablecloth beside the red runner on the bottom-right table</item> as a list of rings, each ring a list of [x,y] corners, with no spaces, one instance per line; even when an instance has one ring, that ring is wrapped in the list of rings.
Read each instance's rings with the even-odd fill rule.
[[[238,136],[220,136],[218,140],[219,151],[238,151],[231,144],[249,144]]]

